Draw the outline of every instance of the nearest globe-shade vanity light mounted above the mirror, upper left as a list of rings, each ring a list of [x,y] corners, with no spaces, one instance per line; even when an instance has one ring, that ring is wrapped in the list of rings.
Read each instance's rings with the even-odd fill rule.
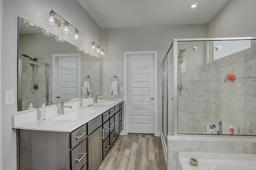
[[[61,27],[63,35],[71,35],[74,41],[81,41],[82,35],[79,33],[78,29],[71,25],[67,20],[62,18],[59,14],[51,10],[49,13],[44,15],[44,20],[46,25],[50,27]],[[74,28],[74,31],[72,30]],[[59,41],[58,41],[59,42]]]

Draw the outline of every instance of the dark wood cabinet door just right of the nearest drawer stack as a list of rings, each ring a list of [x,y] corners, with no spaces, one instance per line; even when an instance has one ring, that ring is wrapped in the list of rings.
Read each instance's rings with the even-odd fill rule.
[[[87,137],[87,144],[88,170],[97,170],[102,163],[102,126]]]

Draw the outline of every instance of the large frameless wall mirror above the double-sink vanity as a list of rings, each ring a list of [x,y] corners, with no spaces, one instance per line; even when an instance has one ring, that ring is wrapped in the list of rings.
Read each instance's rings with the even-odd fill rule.
[[[99,58],[23,18],[18,22],[18,111],[101,95]]]

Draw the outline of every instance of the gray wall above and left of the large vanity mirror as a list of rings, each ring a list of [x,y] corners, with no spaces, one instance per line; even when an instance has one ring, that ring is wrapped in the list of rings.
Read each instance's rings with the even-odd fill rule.
[[[43,16],[56,11],[82,34],[82,41],[74,43],[62,35],[59,29],[44,23]],[[2,3],[2,92],[14,90],[15,103],[4,105],[2,96],[2,169],[16,169],[16,130],[12,129],[12,115],[17,112],[17,29],[18,16],[31,21],[74,45],[89,49],[91,41],[100,42],[101,29],[77,0],[3,0]],[[104,47],[103,47],[104,48]],[[89,50],[88,50],[89,51]]]

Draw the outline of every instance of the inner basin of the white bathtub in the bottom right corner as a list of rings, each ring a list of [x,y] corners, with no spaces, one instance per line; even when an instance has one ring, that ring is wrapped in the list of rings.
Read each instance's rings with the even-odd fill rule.
[[[244,164],[219,164],[211,170],[256,170],[255,167]]]

